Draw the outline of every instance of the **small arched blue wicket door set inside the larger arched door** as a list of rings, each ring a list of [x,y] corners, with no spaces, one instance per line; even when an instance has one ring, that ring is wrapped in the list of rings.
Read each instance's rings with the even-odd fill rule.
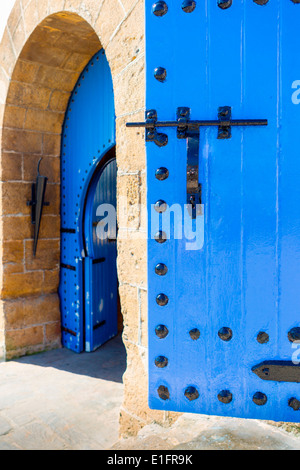
[[[84,215],[85,350],[88,352],[118,333],[115,149],[99,166],[89,189]]]

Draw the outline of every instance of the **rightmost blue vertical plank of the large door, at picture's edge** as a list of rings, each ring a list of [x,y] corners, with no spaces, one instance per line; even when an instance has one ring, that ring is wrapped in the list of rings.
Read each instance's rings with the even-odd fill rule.
[[[291,86],[294,80],[300,76],[299,52],[291,49],[295,44],[297,28],[299,27],[299,14],[296,6],[281,6],[281,20],[279,34],[281,36],[282,48],[279,51],[282,67],[282,85],[280,89],[280,101],[278,126],[278,353],[279,356],[287,356],[291,351],[291,343],[286,341],[288,331],[299,326],[299,282],[300,282],[300,214],[299,199],[300,188],[297,183],[297,175],[300,174],[299,145],[299,105],[293,104],[291,100]],[[293,41],[291,43],[291,41]],[[289,53],[286,51],[289,50]],[[288,343],[288,344],[287,344]],[[297,358],[299,360],[300,355]],[[293,384],[279,384],[278,395],[281,404],[284,400],[295,394]],[[294,396],[294,395],[293,395]],[[295,395],[296,396],[296,395]],[[296,413],[297,414],[297,413]],[[290,410],[287,421],[295,421],[295,412]]]

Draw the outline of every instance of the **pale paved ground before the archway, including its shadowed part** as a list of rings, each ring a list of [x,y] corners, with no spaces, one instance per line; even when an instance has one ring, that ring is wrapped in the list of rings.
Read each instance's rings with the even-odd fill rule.
[[[0,364],[0,450],[109,449],[125,367],[121,338],[91,354],[59,349]]]

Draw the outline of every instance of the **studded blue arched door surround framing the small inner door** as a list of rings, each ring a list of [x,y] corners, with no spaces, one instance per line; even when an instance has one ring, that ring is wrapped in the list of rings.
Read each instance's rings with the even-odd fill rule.
[[[109,64],[101,50],[85,67],[75,86],[62,136],[59,294],[62,343],[75,352],[84,350],[87,328],[84,281],[87,253],[83,230],[85,204],[95,170],[114,146],[113,84]]]

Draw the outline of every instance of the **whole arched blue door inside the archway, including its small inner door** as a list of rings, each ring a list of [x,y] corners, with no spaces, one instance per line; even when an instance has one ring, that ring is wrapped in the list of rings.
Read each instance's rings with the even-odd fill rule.
[[[103,49],[73,90],[62,135],[62,343],[90,352],[118,331],[116,236],[100,239],[96,219],[101,204],[116,213],[114,96]]]

